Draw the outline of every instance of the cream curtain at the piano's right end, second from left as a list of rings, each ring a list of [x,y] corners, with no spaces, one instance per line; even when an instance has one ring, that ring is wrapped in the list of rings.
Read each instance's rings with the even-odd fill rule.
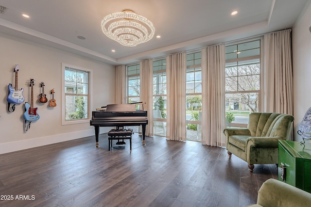
[[[144,60],[140,62],[140,101],[146,103],[140,105],[147,111],[148,125],[146,127],[146,136],[153,136],[153,60]]]

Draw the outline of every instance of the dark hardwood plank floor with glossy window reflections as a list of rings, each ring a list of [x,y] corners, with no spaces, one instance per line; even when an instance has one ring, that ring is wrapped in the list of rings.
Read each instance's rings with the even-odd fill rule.
[[[108,151],[103,134],[0,155],[0,206],[243,207],[269,178],[276,165],[251,173],[225,148],[135,133]]]

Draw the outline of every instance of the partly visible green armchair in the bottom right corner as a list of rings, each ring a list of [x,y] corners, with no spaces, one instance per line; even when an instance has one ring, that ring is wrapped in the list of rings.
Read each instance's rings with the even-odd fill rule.
[[[247,207],[310,207],[311,193],[270,178],[259,189],[257,204]]]

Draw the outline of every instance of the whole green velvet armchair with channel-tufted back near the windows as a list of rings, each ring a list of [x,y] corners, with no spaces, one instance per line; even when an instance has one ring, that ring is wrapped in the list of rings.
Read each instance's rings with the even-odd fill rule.
[[[249,114],[248,128],[226,128],[226,148],[229,158],[234,154],[248,163],[277,164],[277,140],[289,140],[294,117],[283,113]]]

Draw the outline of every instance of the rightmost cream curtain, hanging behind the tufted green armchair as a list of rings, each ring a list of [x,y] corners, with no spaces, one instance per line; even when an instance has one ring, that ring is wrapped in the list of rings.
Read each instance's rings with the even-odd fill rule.
[[[264,111],[293,115],[291,29],[264,35]]]

